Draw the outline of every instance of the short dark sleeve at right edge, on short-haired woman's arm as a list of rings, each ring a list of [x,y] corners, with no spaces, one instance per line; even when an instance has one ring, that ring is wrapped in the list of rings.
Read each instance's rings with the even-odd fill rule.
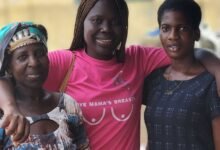
[[[220,117],[220,97],[217,94],[216,82],[213,81],[207,95],[208,110],[210,111],[211,118]]]

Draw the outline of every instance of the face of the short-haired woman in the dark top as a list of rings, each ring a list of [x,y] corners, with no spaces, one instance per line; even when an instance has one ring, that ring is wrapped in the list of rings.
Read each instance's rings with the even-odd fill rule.
[[[199,29],[193,29],[183,13],[164,11],[160,22],[160,40],[171,59],[191,57],[199,35]]]

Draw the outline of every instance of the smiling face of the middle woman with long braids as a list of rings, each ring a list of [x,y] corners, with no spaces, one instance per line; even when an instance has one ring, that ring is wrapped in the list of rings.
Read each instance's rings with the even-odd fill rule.
[[[84,21],[86,51],[93,58],[108,60],[122,39],[122,23],[116,4],[99,0]]]

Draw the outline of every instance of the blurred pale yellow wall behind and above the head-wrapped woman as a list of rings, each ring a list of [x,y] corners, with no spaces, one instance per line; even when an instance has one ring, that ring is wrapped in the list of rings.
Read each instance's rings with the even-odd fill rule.
[[[0,0],[0,26],[34,21],[47,27],[49,49],[69,48],[76,4],[74,0]]]

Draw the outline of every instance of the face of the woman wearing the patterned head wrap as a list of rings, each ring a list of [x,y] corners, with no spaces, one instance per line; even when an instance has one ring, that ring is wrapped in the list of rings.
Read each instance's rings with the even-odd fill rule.
[[[47,49],[42,44],[31,44],[12,53],[8,71],[16,85],[40,88],[47,78],[48,68]]]

